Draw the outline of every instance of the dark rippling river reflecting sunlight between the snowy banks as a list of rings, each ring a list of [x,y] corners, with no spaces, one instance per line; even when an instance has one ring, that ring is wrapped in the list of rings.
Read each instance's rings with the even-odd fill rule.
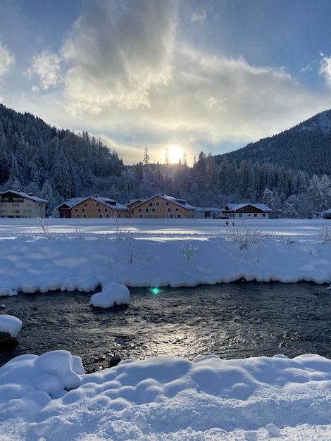
[[[193,288],[131,289],[130,304],[93,309],[91,293],[52,292],[1,297],[0,313],[23,322],[21,354],[66,349],[85,369],[120,359],[172,354],[223,359],[317,353],[331,358],[331,292],[311,283],[237,282]]]

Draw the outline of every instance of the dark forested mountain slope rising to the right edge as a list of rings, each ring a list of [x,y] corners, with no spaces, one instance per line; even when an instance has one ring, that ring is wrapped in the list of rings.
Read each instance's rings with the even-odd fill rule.
[[[273,137],[260,139],[242,149],[216,155],[223,159],[273,165],[301,170],[308,175],[331,175],[331,111],[323,111],[289,130]]]

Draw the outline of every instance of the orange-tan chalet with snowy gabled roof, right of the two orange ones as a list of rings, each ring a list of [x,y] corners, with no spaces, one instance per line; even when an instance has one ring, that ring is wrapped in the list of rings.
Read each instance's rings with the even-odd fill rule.
[[[140,204],[132,208],[132,216],[135,219],[151,218],[195,218],[195,208],[187,204],[185,199],[166,196],[158,193],[149,199],[144,199]]]

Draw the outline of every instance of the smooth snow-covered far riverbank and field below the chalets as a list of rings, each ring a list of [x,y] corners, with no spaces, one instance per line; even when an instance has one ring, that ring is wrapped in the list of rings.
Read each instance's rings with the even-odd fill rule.
[[[35,219],[0,225],[0,294],[194,286],[244,278],[331,282],[327,221]],[[8,221],[15,221],[11,225]],[[18,222],[20,221],[20,222]]]

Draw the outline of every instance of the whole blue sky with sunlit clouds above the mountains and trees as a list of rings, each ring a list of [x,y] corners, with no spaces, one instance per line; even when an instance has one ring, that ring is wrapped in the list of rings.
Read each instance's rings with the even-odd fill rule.
[[[189,163],[330,108],[329,0],[0,0],[0,102],[124,163]]]

